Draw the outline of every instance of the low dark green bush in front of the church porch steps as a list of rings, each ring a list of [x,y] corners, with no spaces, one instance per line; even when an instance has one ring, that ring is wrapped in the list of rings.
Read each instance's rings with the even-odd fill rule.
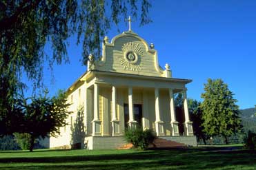
[[[126,129],[124,136],[127,142],[140,150],[148,149],[148,145],[155,139],[155,133],[151,129],[143,130],[141,127]]]

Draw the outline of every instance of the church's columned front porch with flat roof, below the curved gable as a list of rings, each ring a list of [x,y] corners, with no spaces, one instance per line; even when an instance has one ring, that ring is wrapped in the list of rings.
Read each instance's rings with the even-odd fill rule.
[[[157,136],[193,136],[185,87],[190,80],[130,74],[120,76],[97,70],[90,74],[93,77],[88,81],[84,78],[88,84],[87,100],[93,101],[86,109],[88,135],[122,136],[125,127],[141,125],[144,129],[153,129]],[[175,114],[173,96],[178,92],[184,94],[184,122],[181,123],[184,131],[179,129]],[[141,113],[135,113],[135,105],[141,105]]]

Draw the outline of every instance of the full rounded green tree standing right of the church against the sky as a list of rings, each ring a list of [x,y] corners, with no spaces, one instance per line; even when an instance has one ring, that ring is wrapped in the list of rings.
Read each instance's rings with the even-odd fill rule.
[[[228,85],[221,79],[208,79],[204,84],[204,98],[200,105],[203,118],[204,131],[208,136],[224,136],[228,144],[228,136],[231,136],[242,129],[239,118],[239,107],[235,104]]]

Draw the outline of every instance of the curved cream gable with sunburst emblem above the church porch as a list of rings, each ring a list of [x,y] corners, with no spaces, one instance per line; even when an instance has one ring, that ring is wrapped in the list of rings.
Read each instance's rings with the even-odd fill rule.
[[[115,36],[111,43],[105,39],[103,56],[95,67],[107,72],[139,74],[145,76],[164,76],[159,67],[157,51],[133,32]]]

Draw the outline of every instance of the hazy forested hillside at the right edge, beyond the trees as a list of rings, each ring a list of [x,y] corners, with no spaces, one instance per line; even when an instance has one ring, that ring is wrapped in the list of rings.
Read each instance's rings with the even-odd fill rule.
[[[249,108],[249,109],[241,109],[241,118],[242,124],[244,125],[244,132],[246,131],[254,131],[256,132],[256,109]]]

